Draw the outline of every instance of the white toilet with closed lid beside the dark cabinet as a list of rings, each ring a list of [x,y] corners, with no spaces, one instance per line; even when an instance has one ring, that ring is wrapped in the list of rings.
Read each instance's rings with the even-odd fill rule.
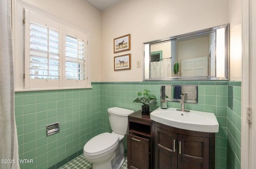
[[[124,163],[124,135],[128,133],[128,115],[133,110],[119,107],[108,109],[112,133],[102,133],[84,145],[84,157],[93,169],[120,169]]]

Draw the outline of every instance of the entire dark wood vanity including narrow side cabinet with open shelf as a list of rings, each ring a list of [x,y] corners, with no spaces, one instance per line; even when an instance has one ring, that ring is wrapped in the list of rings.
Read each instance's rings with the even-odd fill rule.
[[[214,169],[215,133],[166,126],[142,115],[128,116],[128,169]]]

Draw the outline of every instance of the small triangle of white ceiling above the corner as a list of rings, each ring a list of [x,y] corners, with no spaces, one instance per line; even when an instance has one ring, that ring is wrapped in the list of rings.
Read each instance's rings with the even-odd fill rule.
[[[99,10],[100,12],[118,4],[123,0],[85,0],[88,4]]]

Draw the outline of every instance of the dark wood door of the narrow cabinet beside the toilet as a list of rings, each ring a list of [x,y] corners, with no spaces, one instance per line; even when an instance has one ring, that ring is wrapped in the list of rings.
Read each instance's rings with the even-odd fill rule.
[[[146,138],[127,135],[128,169],[149,169],[149,141]]]

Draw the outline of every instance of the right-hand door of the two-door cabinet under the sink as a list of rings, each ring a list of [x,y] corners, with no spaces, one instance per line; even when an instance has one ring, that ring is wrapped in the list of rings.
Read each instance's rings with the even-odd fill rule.
[[[178,169],[209,169],[209,138],[178,134]]]

